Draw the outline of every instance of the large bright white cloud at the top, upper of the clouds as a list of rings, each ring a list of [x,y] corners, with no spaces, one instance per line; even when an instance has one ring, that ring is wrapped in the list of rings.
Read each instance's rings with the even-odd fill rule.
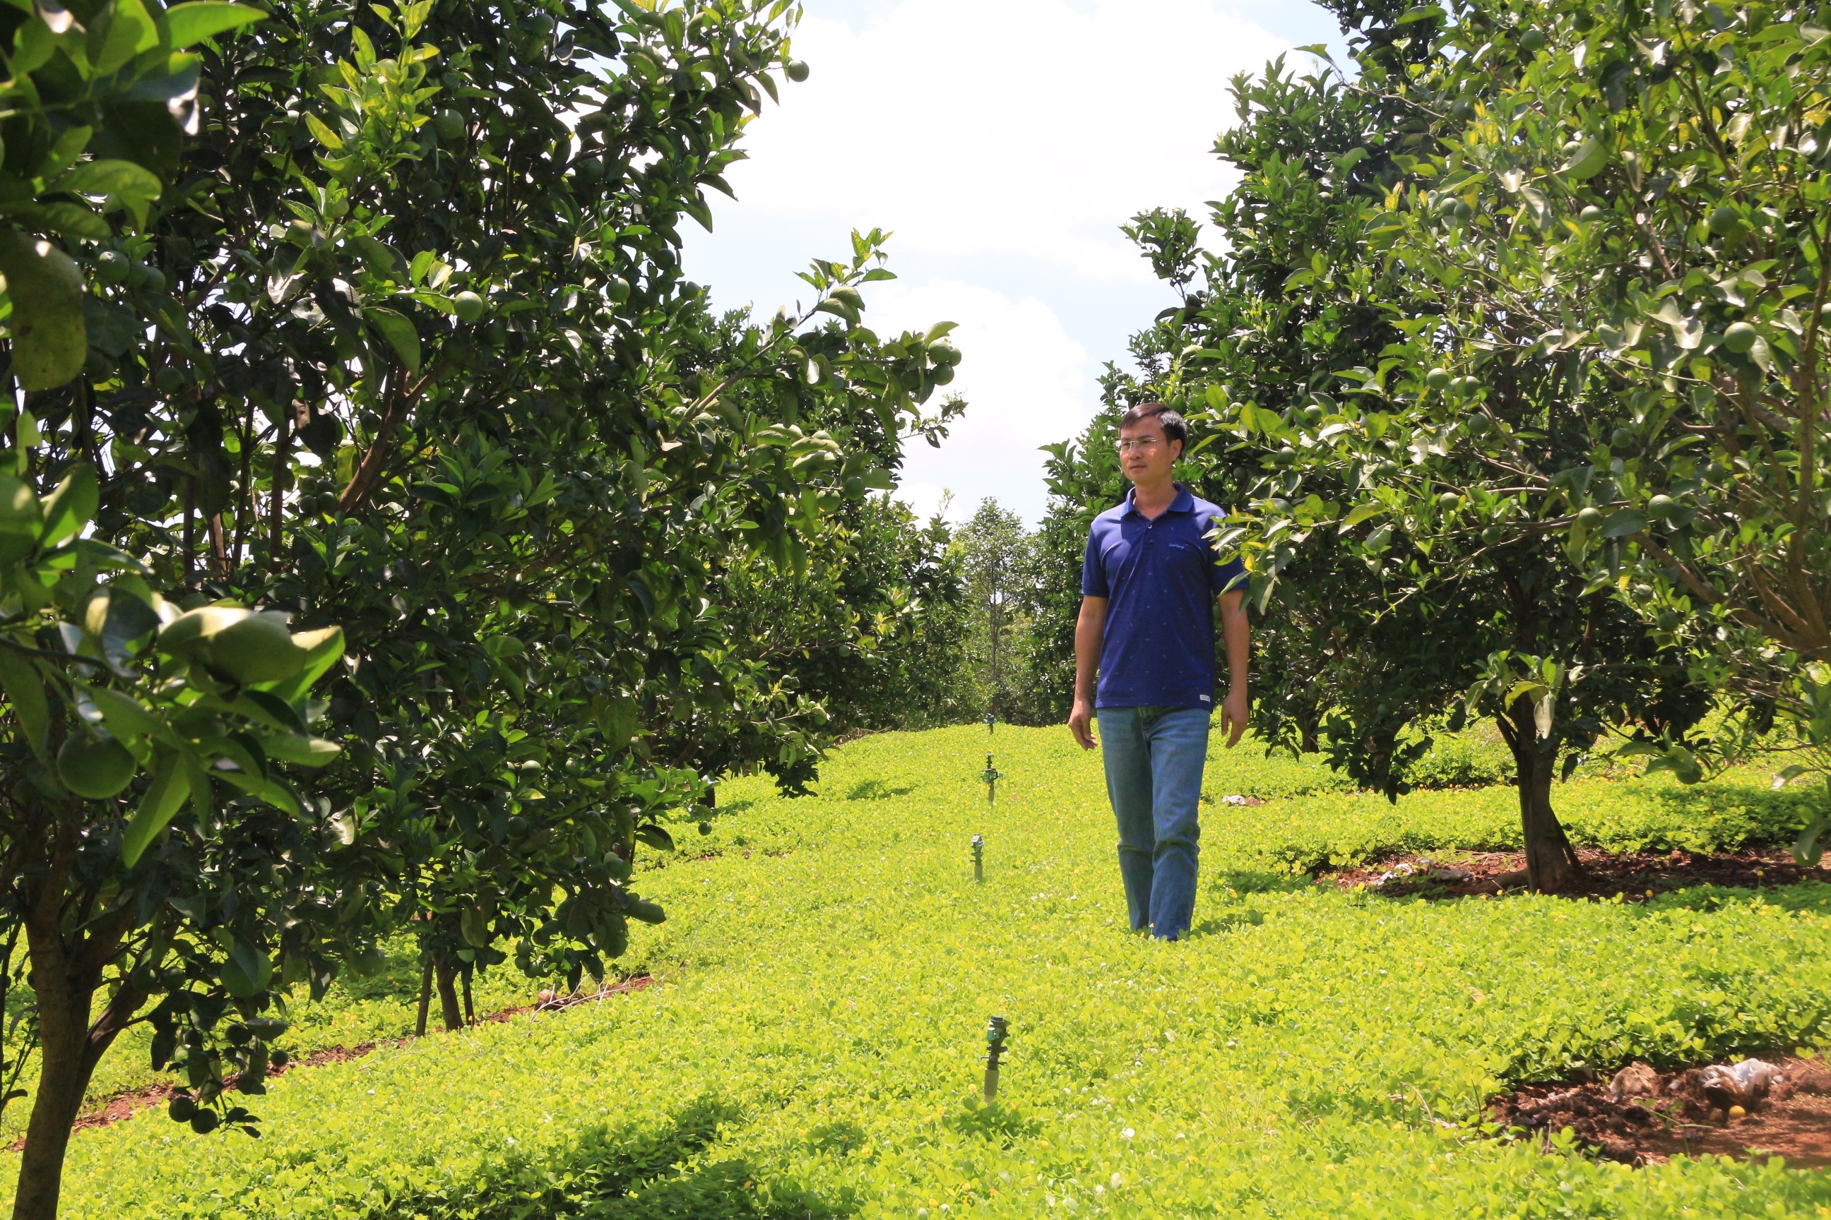
[[[1227,82],[1284,44],[1208,0],[905,0],[866,29],[809,16],[811,79],[749,135],[745,207],[881,225],[948,260],[1018,256],[1148,282],[1132,214],[1201,214]]]

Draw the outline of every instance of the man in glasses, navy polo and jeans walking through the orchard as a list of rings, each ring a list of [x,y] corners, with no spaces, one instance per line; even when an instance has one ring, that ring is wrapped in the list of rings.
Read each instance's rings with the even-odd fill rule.
[[[1170,476],[1188,426],[1161,402],[1119,421],[1124,503],[1093,519],[1075,624],[1075,710],[1067,726],[1091,750],[1100,721],[1106,794],[1119,821],[1119,874],[1132,929],[1188,935],[1196,911],[1201,766],[1214,708],[1214,602],[1227,642],[1221,730],[1247,728],[1247,613],[1240,560],[1207,536],[1225,516]],[[1099,669],[1099,690],[1093,675]]]

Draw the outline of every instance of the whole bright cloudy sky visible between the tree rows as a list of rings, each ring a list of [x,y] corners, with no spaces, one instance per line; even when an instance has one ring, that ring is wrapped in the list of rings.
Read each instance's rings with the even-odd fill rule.
[[[1035,523],[1036,446],[1075,435],[1108,360],[1172,302],[1119,232],[1150,207],[1207,216],[1230,179],[1212,143],[1227,84],[1340,35],[1298,0],[804,0],[785,84],[745,137],[751,161],[692,230],[687,271],[721,307],[807,296],[795,273],[894,230],[879,333],[959,324],[965,419],[906,452],[903,498],[970,516],[983,498]],[[1293,55],[1302,62],[1302,55]],[[690,227],[688,227],[690,229]]]

